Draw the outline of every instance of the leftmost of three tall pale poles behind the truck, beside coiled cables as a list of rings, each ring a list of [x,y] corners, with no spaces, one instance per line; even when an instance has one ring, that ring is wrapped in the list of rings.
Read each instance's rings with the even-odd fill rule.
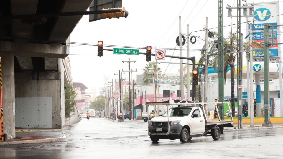
[[[181,16],[179,16],[179,48],[180,48],[180,57],[183,56],[182,53],[182,23],[181,23]],[[183,60],[180,59],[180,80],[181,80],[181,91],[180,91],[180,95],[181,98],[184,99],[185,95],[184,95],[184,76],[183,76]]]

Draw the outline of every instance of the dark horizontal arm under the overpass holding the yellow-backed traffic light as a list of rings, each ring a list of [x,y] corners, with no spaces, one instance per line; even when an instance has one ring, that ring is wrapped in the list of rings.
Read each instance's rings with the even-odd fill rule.
[[[90,14],[103,14],[103,13],[117,13],[124,12],[122,9],[109,9],[109,10],[97,10],[97,11],[74,11],[74,12],[63,12],[63,13],[52,13],[52,14],[27,14],[27,15],[11,15],[11,16],[0,16],[0,19],[36,19],[36,18],[51,18],[59,16],[76,16],[76,15],[90,15]]]

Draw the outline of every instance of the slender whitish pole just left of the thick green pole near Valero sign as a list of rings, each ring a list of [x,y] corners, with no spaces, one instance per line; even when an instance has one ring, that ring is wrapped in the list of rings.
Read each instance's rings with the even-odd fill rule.
[[[251,127],[254,127],[254,98],[253,98],[253,36],[252,36],[252,32],[251,32],[251,28],[252,28],[252,23],[250,23],[250,79],[248,81],[248,83],[250,83],[250,96],[248,97],[248,99],[250,100],[250,108],[249,108],[249,112],[251,115]]]

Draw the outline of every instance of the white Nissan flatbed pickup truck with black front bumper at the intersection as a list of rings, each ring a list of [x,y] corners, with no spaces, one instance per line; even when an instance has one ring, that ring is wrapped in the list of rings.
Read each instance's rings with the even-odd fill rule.
[[[154,104],[158,105],[158,103]],[[162,102],[161,104],[171,105],[173,103]],[[186,102],[182,103],[180,107],[169,109],[163,116],[149,120],[148,135],[152,142],[157,143],[159,139],[175,140],[178,138],[181,142],[187,142],[192,137],[198,136],[212,136],[214,140],[218,140],[220,135],[223,134],[223,127],[233,127],[233,119],[208,121],[205,113],[203,113],[204,108],[202,105],[204,104],[216,105],[216,103],[192,104]],[[152,105],[152,103],[146,105]]]

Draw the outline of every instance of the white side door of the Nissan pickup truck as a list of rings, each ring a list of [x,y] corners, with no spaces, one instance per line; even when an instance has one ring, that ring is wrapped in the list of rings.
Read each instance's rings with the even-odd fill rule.
[[[203,114],[200,113],[200,109],[196,108],[192,112],[192,134],[202,134],[205,130],[205,120]]]

